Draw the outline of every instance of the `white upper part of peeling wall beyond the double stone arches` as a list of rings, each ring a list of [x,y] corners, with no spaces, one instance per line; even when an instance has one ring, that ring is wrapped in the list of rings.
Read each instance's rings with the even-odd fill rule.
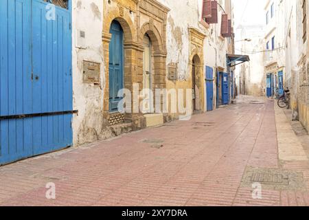
[[[189,39],[188,28],[196,28],[206,35],[204,42],[204,64],[210,67],[226,69],[227,39],[220,39],[221,13],[218,7],[218,24],[211,24],[206,28],[202,19],[203,0],[159,0],[170,8],[167,27],[167,63],[179,63],[179,80],[188,80]],[[225,8],[225,1],[218,1]]]

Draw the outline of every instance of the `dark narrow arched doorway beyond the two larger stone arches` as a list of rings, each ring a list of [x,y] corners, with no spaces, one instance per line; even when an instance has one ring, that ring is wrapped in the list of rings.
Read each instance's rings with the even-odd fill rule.
[[[199,69],[201,61],[198,55],[195,55],[192,60],[192,110],[200,111],[200,83]]]

